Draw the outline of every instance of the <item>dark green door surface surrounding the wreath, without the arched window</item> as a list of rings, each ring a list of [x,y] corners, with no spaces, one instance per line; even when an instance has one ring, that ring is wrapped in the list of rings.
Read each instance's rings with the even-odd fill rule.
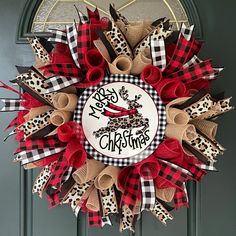
[[[25,0],[0,1],[0,71],[1,80],[4,82],[14,78],[16,74],[14,65],[30,65],[33,61],[29,46],[15,44],[18,19],[25,3]],[[227,96],[236,96],[234,78],[236,2],[195,0],[195,5],[205,41],[202,57],[211,57],[216,66],[225,66],[221,78],[215,82],[214,90],[225,90]],[[0,93],[0,97],[9,96],[3,90]],[[0,116],[1,129],[14,118],[14,114],[0,114]],[[144,213],[135,235],[236,235],[235,118],[235,113],[231,112],[219,120],[221,125],[218,139],[227,147],[227,151],[219,158],[218,173],[210,173],[200,185],[188,186],[191,208],[174,212],[175,219],[169,222],[167,227],[157,222],[150,214]],[[3,137],[3,132],[0,132],[0,235],[119,235],[119,227],[114,219],[114,227],[87,229],[86,217],[83,214],[80,214],[77,220],[69,207],[62,206],[48,210],[45,199],[32,197],[31,186],[37,172],[25,172],[12,163],[12,152],[16,142],[11,138],[7,143],[3,143]],[[125,232],[123,235],[131,234]]]

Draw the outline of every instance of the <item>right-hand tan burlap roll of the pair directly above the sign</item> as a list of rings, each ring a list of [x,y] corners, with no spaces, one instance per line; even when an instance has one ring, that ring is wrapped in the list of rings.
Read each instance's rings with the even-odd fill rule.
[[[131,74],[139,75],[145,67],[152,64],[150,48],[144,49],[133,60]]]

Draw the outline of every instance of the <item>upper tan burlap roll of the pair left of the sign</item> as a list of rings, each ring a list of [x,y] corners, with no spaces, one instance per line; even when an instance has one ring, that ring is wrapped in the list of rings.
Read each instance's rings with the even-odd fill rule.
[[[58,110],[73,112],[77,101],[78,97],[75,94],[57,93],[53,97],[53,106]]]

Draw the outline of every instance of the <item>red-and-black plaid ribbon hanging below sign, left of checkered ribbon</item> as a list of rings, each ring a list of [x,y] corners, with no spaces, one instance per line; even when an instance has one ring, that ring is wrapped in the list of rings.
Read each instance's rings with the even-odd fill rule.
[[[127,205],[133,210],[140,191],[140,175],[135,167],[132,167],[125,183],[125,191],[121,198],[121,206]]]

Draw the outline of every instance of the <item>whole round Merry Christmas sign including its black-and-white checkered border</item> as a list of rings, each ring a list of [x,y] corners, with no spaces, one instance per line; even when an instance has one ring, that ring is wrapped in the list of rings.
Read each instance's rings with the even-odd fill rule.
[[[84,148],[107,165],[144,160],[165,134],[166,113],[154,88],[132,75],[109,75],[83,91],[74,113],[82,125]]]

